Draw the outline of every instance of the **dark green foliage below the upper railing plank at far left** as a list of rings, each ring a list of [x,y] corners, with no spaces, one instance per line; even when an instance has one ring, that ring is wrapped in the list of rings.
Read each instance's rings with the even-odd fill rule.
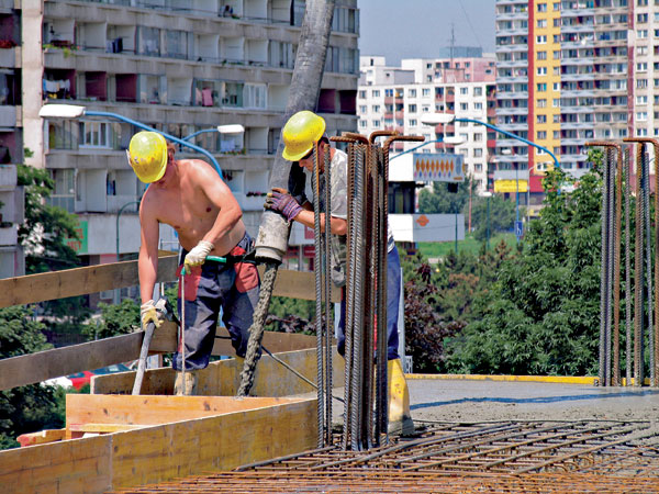
[[[0,310],[0,358],[16,357],[51,347],[42,330],[24,306]],[[43,428],[63,427],[57,401],[63,391],[32,384],[0,392],[0,449],[19,446],[15,438]]]

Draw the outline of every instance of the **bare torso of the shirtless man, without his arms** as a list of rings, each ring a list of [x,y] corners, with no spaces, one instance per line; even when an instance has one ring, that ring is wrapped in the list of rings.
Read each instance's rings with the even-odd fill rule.
[[[144,195],[144,213],[153,215],[158,223],[174,227],[179,236],[179,242],[186,250],[192,249],[215,224],[217,215],[222,214],[222,205],[211,201],[202,188],[202,179],[197,172],[200,161],[194,159],[180,159],[176,161],[176,177],[165,183],[153,183]],[[204,166],[208,166],[204,164]],[[211,176],[212,177],[212,176]],[[178,178],[178,179],[177,179]],[[222,181],[220,177],[214,177]],[[226,184],[223,188],[233,199]],[[213,244],[211,251],[214,256],[224,256],[236,246],[245,235],[243,220],[238,220],[231,228]]]

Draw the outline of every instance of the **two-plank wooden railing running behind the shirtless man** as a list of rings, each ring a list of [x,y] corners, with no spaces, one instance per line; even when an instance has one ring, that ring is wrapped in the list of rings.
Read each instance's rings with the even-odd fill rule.
[[[158,282],[176,281],[177,255],[160,252]],[[139,283],[137,261],[113,262],[86,268],[30,274],[0,280],[0,307],[23,305],[67,296],[85,295],[105,290],[135,287]],[[313,272],[279,270],[273,295],[315,300]],[[332,293],[339,301],[338,291]],[[217,336],[227,336],[219,328]],[[0,360],[0,391],[33,384],[62,375],[99,369],[139,358],[143,332],[114,336],[80,345],[38,351]],[[282,335],[266,332],[264,346],[271,352],[310,348],[313,338],[303,335]],[[177,326],[166,323],[159,327],[149,346],[150,353],[176,351]],[[215,339],[213,355],[233,355],[228,339]]]

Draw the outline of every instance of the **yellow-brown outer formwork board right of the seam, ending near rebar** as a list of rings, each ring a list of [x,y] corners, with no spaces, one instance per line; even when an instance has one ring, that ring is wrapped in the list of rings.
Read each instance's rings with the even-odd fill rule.
[[[314,448],[315,403],[304,400],[110,435],[112,486],[126,489],[209,470],[231,470]]]

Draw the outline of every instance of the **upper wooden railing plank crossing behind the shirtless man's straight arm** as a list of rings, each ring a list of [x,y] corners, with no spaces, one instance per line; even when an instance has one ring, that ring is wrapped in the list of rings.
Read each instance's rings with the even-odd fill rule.
[[[176,279],[177,255],[159,257],[158,281]],[[112,262],[0,280],[0,307],[86,295],[139,284],[137,261]]]

